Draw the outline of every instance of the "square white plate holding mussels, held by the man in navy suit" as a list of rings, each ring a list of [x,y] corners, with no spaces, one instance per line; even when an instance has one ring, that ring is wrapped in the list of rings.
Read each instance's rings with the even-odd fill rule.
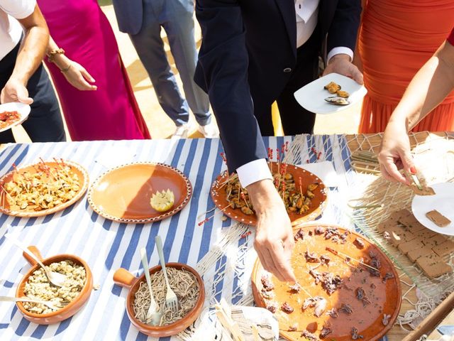
[[[360,102],[366,93],[364,85],[338,73],[330,73],[301,87],[294,97],[309,112],[334,114]]]

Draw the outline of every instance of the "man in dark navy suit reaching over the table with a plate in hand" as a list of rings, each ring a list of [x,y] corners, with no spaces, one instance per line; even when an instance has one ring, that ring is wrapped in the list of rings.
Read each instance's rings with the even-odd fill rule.
[[[266,164],[263,135],[272,135],[277,101],[284,133],[311,133],[315,114],[294,92],[325,73],[362,83],[352,63],[360,0],[196,0],[202,45],[195,80],[209,94],[229,171],[236,171],[258,215],[255,249],[281,281],[294,281],[292,227]]]

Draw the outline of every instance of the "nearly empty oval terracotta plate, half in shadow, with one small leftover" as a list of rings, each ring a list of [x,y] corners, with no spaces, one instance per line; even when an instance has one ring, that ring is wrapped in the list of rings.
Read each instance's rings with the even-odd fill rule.
[[[150,205],[157,190],[170,189],[175,203],[167,212]],[[192,195],[192,185],[182,172],[163,163],[131,163],[107,171],[93,183],[88,200],[93,210],[109,220],[145,223],[162,220],[183,209]]]

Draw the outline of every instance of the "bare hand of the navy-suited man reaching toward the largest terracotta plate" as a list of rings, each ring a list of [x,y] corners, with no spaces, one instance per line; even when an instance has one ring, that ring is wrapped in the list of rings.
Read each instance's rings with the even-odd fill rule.
[[[258,216],[254,247],[265,270],[279,281],[296,281],[290,264],[294,248],[293,230],[272,180],[248,185],[250,200]]]

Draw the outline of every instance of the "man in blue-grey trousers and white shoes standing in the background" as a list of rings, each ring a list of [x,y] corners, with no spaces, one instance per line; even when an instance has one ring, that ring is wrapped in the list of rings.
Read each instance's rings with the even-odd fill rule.
[[[216,125],[211,124],[208,97],[194,82],[197,60],[194,1],[114,0],[113,3],[120,31],[129,33],[150,76],[157,100],[177,126],[174,136],[187,137],[191,130],[188,123],[190,107],[199,123],[199,131],[205,137],[217,137]],[[167,60],[161,27],[167,33],[186,99],[179,92],[175,75]]]

